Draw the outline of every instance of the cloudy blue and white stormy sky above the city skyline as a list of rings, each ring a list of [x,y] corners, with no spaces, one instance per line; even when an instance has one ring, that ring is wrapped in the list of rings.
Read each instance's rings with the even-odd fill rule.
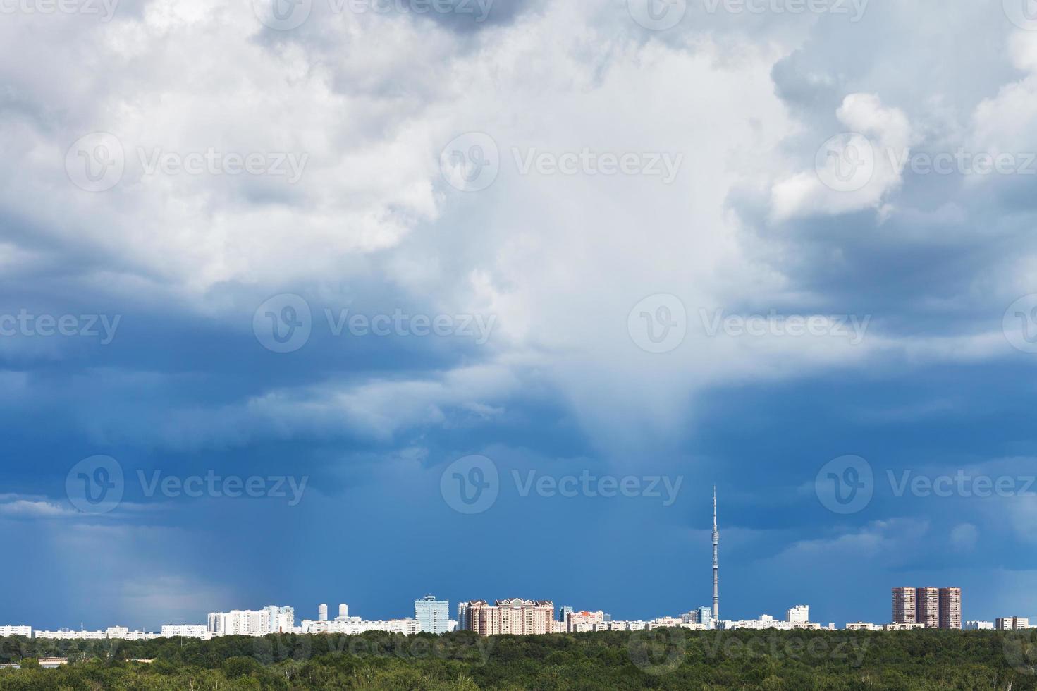
[[[0,625],[1037,617],[1027,2],[0,4]]]

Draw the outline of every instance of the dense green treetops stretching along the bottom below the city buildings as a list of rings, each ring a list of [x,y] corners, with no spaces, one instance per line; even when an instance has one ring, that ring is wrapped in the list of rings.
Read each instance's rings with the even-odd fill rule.
[[[40,669],[36,660],[69,659]],[[148,660],[150,662],[139,662]],[[1037,691],[1027,632],[600,632],[209,641],[0,638],[0,691],[95,689],[884,689]]]

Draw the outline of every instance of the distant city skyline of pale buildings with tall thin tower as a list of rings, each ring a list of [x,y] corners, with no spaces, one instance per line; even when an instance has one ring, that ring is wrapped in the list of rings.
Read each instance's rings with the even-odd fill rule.
[[[661,616],[650,620],[614,620],[601,610],[577,610],[555,606],[551,600],[512,598],[470,600],[458,603],[456,618],[450,616],[450,603],[427,595],[414,601],[414,616],[408,618],[367,620],[349,616],[345,603],[338,605],[338,614],[329,618],[328,605],[316,608],[315,619],[302,619],[296,625],[296,610],[289,606],[270,605],[258,610],[212,612],[205,624],[169,624],[158,632],[131,631],[127,627],[108,627],[99,631],[39,631],[30,626],[0,626],[0,637],[57,640],[150,640],[156,638],[198,638],[208,640],[219,636],[265,636],[269,634],[346,634],[368,631],[413,636],[419,633],[445,634],[474,631],[481,636],[571,634],[594,631],[651,631],[681,628],[695,631],[774,629],[835,631],[835,624],[822,626],[810,620],[808,605],[794,605],[782,619],[762,614],[756,619],[721,619],[720,613],[720,531],[717,524],[717,491],[713,489],[712,525],[712,605],[703,605],[677,616]],[[848,631],[905,631],[912,629],[964,629],[969,631],[1017,631],[1030,628],[1027,617],[1004,616],[993,621],[962,621],[961,588],[959,587],[895,587],[892,589],[892,621],[872,624],[853,621]]]

